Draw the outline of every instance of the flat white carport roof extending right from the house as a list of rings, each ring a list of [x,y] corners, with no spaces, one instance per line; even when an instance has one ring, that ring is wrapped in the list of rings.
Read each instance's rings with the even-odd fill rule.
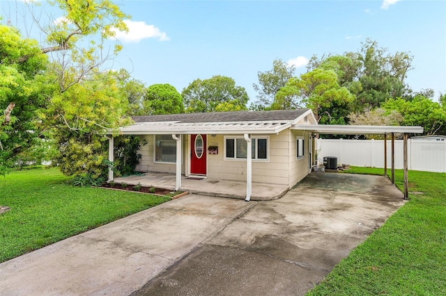
[[[311,131],[313,133],[342,135],[376,135],[384,133],[422,133],[422,126],[374,126],[374,125],[331,125],[331,124],[295,124],[291,129]]]

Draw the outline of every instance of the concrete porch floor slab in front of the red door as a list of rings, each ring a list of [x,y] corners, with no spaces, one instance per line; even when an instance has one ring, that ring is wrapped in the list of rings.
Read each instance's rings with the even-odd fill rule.
[[[156,188],[166,188],[175,190],[176,174],[162,172],[146,172],[144,176],[125,176],[114,178],[116,183],[127,183],[141,186],[152,186]],[[246,181],[228,181],[220,179],[198,179],[181,176],[181,191],[188,191],[194,194],[211,195],[216,197],[230,197],[245,199]],[[273,200],[282,197],[289,190],[288,186],[252,183],[252,200]]]

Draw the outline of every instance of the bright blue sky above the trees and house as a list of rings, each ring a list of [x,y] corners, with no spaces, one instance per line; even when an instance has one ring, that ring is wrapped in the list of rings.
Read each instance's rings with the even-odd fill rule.
[[[17,4],[18,3],[18,4]],[[446,1],[115,1],[130,34],[113,65],[178,92],[194,79],[232,77],[252,101],[257,72],[272,61],[297,60],[296,75],[314,54],[358,51],[366,38],[391,54],[410,52],[413,90],[446,92]],[[0,0],[7,19],[19,2]],[[57,17],[57,15],[55,15]],[[18,25],[20,26],[20,25]]]

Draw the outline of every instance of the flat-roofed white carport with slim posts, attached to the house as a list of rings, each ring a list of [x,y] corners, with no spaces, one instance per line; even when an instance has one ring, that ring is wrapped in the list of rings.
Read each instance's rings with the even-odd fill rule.
[[[394,138],[396,133],[403,134],[403,171],[404,171],[404,199],[408,199],[408,159],[407,159],[407,140],[409,133],[423,133],[422,126],[367,126],[367,125],[305,125],[299,124],[291,127],[291,129],[305,130],[318,134],[331,135],[384,135],[384,175],[387,175],[387,135],[390,135],[392,145],[391,170],[392,185],[395,183],[394,172]],[[316,147],[316,145],[313,145]],[[313,148],[314,149],[314,148]],[[315,151],[312,151],[315,153]]]

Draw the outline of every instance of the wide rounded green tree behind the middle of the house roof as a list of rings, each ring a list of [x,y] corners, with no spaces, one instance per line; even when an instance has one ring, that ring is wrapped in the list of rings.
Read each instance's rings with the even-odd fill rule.
[[[245,88],[226,76],[196,79],[181,92],[187,113],[217,110],[246,110],[249,100]]]

